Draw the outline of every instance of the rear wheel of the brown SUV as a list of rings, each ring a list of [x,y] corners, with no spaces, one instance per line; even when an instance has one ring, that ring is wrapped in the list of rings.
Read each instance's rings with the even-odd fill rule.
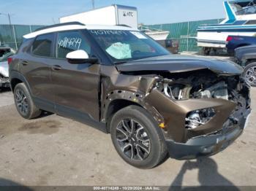
[[[41,110],[34,105],[34,101],[24,83],[15,86],[14,100],[16,109],[21,117],[31,120],[41,114]]]

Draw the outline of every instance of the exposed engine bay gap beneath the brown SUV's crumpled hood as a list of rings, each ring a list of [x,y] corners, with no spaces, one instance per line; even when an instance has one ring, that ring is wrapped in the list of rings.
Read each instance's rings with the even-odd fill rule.
[[[238,80],[239,77],[216,77],[211,73],[195,73],[187,78],[162,79],[157,86],[162,93],[175,100],[188,98],[230,100],[228,91],[236,89]]]

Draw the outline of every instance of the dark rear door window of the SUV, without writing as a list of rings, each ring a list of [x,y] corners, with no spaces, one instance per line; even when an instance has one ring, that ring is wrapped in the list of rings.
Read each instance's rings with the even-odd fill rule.
[[[43,34],[37,36],[34,41],[32,52],[34,55],[52,57],[51,47],[53,44],[54,34]]]

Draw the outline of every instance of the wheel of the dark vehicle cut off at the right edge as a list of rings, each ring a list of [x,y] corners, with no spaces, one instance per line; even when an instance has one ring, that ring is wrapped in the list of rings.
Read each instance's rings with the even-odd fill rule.
[[[245,67],[243,77],[249,85],[256,87],[256,62]]]

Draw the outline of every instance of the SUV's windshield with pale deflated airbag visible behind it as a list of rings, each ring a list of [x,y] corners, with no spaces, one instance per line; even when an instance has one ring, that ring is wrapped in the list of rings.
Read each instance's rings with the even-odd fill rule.
[[[160,44],[140,31],[89,30],[114,63],[170,55]]]

